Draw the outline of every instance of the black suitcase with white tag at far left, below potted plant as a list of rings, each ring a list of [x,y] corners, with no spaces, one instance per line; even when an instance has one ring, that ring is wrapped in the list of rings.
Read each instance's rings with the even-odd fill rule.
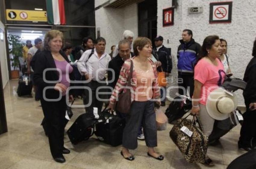
[[[30,76],[20,76],[17,87],[18,96],[31,95],[32,87],[33,85],[32,81],[30,80]]]

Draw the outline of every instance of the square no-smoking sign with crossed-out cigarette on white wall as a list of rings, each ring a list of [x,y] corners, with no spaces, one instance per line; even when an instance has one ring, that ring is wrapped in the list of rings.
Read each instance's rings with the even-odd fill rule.
[[[230,23],[232,16],[232,2],[210,3],[210,23]]]

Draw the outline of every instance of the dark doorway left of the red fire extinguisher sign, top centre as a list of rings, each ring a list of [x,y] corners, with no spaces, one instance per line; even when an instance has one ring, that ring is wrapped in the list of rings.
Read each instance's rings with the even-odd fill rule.
[[[139,36],[148,37],[154,42],[157,36],[157,1],[145,0],[139,3],[138,15]]]

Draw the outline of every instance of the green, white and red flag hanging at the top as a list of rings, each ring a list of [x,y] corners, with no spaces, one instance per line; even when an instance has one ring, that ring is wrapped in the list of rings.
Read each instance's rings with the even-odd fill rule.
[[[51,25],[65,25],[64,0],[46,0],[47,20]]]

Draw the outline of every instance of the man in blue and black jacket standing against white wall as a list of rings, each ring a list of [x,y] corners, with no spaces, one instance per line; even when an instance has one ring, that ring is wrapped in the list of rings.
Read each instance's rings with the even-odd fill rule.
[[[192,37],[192,31],[184,29],[177,52],[179,94],[186,95],[186,91],[189,90],[190,97],[194,92],[194,66],[201,48]]]

